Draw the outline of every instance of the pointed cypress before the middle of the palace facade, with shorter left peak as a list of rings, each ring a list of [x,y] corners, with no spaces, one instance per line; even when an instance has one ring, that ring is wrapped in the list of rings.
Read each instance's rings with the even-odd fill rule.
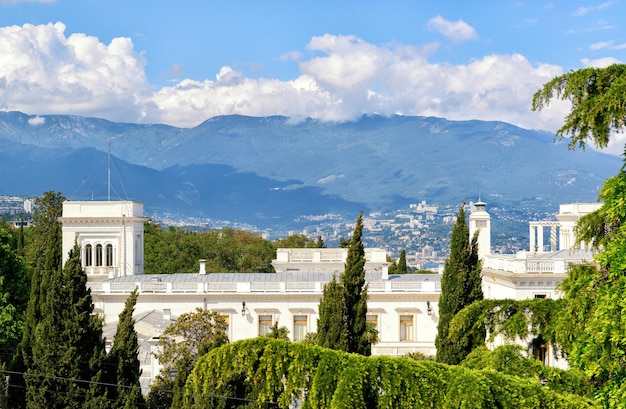
[[[339,282],[333,277],[332,281],[324,285],[324,295],[319,306],[317,342],[328,348],[369,355],[373,337],[366,321],[367,286],[362,234],[363,212],[356,220],[348,244],[345,269]]]

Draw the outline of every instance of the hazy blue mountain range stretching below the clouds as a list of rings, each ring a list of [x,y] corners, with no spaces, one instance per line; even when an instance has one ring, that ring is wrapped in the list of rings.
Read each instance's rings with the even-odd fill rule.
[[[539,201],[550,210],[595,201],[621,159],[553,139],[503,122],[427,117],[291,123],[233,115],[182,129],[0,112],[0,193],[103,199],[110,143],[114,186],[125,181],[117,197],[141,200],[147,211],[260,227],[479,195],[491,206]]]

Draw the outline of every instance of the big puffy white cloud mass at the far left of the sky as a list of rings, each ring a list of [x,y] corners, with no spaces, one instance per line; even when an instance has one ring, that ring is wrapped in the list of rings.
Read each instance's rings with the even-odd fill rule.
[[[65,36],[62,23],[0,28],[0,108],[141,118],[150,96],[145,61],[130,39]]]

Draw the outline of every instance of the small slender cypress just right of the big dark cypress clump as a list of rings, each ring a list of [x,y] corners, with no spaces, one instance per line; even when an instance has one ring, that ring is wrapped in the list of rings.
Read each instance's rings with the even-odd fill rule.
[[[128,296],[124,310],[119,315],[113,348],[106,359],[106,379],[108,383],[116,385],[110,391],[109,399],[116,402],[117,408],[127,405],[135,408],[145,403],[140,393],[139,343],[133,319],[138,296],[137,289]]]

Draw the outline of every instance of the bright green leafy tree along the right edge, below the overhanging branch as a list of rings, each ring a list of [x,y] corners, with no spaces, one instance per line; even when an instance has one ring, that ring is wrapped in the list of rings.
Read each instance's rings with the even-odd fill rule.
[[[566,306],[559,332],[568,361],[605,385],[607,407],[626,402],[625,197],[626,162],[602,187],[600,209],[577,225],[577,240],[602,246],[602,252],[594,264],[573,266],[561,284]]]

